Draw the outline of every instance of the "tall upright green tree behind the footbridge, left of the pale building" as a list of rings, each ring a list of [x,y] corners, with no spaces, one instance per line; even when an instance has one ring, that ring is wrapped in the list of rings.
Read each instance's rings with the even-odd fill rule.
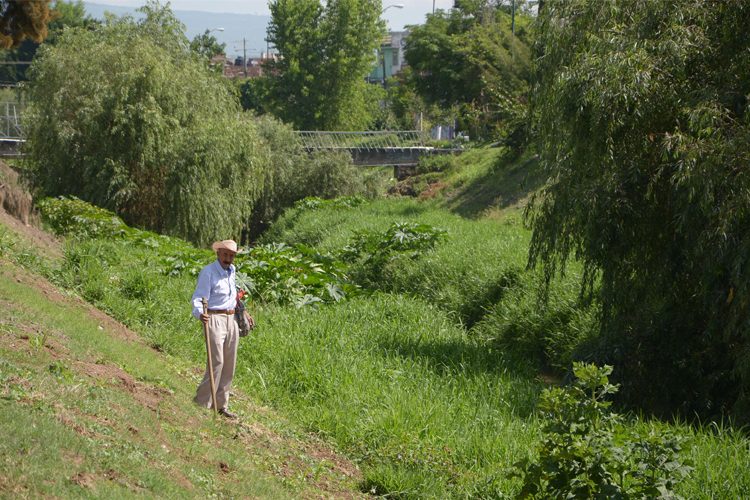
[[[380,0],[274,0],[268,38],[272,112],[299,129],[356,129],[370,120],[365,76],[383,32]]]

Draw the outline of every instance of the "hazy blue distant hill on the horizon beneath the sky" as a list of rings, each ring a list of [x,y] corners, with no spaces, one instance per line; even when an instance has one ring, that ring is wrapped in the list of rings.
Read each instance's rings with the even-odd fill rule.
[[[117,7],[92,2],[84,2],[84,5],[86,6],[86,13],[95,19],[104,19],[105,12],[111,12],[117,16],[142,17],[134,8],[130,7]],[[242,55],[243,38],[245,39],[248,57],[257,57],[261,52],[266,52],[266,26],[271,20],[270,16],[192,10],[175,10],[174,14],[185,25],[185,33],[191,40],[207,29],[224,28],[223,32],[214,31],[212,34],[219,42],[226,44],[226,51],[229,56]]]

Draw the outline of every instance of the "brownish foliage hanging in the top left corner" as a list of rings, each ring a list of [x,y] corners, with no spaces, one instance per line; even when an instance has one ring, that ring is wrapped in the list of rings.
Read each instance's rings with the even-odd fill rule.
[[[53,18],[50,0],[17,2],[0,1],[0,48],[18,46],[23,40],[41,42],[47,36],[47,25]]]

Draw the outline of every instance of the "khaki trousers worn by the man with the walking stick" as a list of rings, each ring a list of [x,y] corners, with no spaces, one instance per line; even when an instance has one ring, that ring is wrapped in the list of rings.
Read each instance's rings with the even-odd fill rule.
[[[234,367],[237,364],[237,343],[239,327],[234,314],[211,314],[208,318],[208,339],[211,344],[211,362],[216,383],[216,406],[226,408],[229,403],[229,389],[232,387]],[[200,406],[211,408],[211,380],[206,373],[198,386],[194,401]]]

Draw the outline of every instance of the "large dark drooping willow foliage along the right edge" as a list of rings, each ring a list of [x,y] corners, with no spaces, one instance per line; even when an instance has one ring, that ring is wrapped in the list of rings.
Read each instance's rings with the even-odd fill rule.
[[[530,264],[601,280],[626,400],[746,418],[750,394],[750,6],[545,2],[535,126],[550,182]],[[654,384],[654,380],[659,380]]]

